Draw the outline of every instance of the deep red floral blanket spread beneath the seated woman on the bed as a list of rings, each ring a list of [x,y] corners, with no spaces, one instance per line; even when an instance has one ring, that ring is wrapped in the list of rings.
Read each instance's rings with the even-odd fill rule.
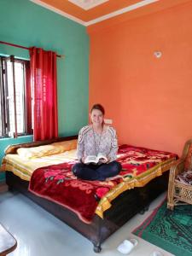
[[[108,182],[84,181],[73,176],[71,168],[75,161],[38,168],[32,173],[29,190],[35,195],[55,201],[76,212],[81,220],[90,223],[98,201],[110,189],[125,179],[132,180],[143,172],[166,160],[177,158],[176,154],[138,148],[129,145],[119,147],[118,161],[122,171]]]

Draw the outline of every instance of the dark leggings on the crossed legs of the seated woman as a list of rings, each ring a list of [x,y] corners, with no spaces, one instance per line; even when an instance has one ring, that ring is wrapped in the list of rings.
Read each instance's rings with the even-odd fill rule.
[[[120,170],[121,165],[117,161],[102,165],[77,163],[72,168],[73,174],[79,178],[100,181],[104,181],[107,177],[118,175]]]

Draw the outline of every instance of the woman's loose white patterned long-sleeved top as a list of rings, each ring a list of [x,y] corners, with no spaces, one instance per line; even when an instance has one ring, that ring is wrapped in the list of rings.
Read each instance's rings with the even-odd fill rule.
[[[88,155],[105,154],[110,162],[117,159],[118,140],[116,131],[112,126],[98,134],[91,125],[84,126],[79,131],[77,157],[79,160]]]

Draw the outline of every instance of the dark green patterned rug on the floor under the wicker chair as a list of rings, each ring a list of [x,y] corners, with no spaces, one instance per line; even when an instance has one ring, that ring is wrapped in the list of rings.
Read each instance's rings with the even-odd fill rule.
[[[132,231],[176,256],[192,256],[192,206],[166,209],[166,201]]]

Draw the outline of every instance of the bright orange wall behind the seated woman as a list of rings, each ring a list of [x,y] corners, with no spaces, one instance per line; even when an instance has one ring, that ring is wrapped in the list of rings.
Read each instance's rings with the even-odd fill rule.
[[[192,1],[90,31],[90,106],[96,102],[119,143],[181,154],[192,137]]]

